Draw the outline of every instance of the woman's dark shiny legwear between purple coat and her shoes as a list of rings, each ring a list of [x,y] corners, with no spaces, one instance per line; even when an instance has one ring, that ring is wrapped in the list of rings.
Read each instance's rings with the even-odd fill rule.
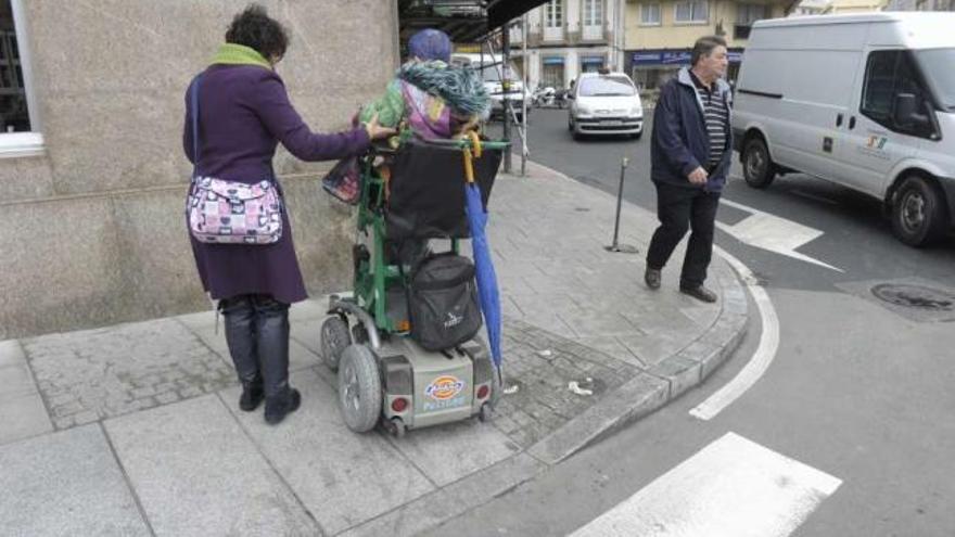
[[[289,305],[270,295],[239,295],[219,303],[226,343],[239,382],[262,383],[266,397],[289,386]]]

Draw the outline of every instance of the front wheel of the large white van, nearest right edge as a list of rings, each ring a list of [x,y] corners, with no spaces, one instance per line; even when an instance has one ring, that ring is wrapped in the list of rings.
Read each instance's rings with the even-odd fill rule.
[[[945,232],[946,213],[934,184],[922,177],[908,177],[895,193],[892,232],[909,246],[928,246]]]

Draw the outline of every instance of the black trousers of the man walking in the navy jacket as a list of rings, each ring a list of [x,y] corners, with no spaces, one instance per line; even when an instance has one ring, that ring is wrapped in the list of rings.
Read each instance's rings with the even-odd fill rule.
[[[706,280],[706,267],[713,256],[713,228],[718,192],[699,188],[683,188],[666,183],[657,186],[657,218],[660,227],[653,232],[647,251],[647,266],[662,269],[673,248],[679,244],[687,230],[691,230],[686,257],[679,277],[682,287],[695,287]]]

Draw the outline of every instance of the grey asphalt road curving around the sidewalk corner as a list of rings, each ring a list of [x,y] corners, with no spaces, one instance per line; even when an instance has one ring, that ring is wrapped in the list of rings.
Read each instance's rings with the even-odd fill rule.
[[[652,210],[649,123],[639,141],[576,142],[565,111],[535,110],[531,157],[615,193],[620,161],[627,156],[624,196]],[[888,306],[873,293],[881,283],[955,293],[955,241],[914,250],[891,235],[874,201],[802,175],[757,191],[736,168],[717,220],[734,226],[755,210],[767,230],[812,230],[815,238],[794,253],[835,267],[717,232],[717,245],[756,273],[778,315],[779,348],[762,379],[710,421],[689,414],[752,356],[763,327],[751,301],[746,341],[702,387],[431,535],[449,528],[474,536],[569,534],[727,433],[841,481],[791,535],[955,535],[953,305]],[[641,274],[634,274],[634,284],[642,284]],[[761,509],[754,504],[746,516],[755,523]]]

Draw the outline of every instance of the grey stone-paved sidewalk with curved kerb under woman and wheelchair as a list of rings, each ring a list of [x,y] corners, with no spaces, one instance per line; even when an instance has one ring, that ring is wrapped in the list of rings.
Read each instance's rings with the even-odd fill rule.
[[[12,535],[413,535],[703,380],[736,348],[747,298],[714,259],[705,305],[642,284],[652,214],[547,168],[501,175],[489,240],[506,385],[491,423],[351,433],[321,365],[324,297],[292,309],[303,407],[240,412],[211,312],[0,342],[0,521]],[[591,392],[569,388],[576,382]]]

